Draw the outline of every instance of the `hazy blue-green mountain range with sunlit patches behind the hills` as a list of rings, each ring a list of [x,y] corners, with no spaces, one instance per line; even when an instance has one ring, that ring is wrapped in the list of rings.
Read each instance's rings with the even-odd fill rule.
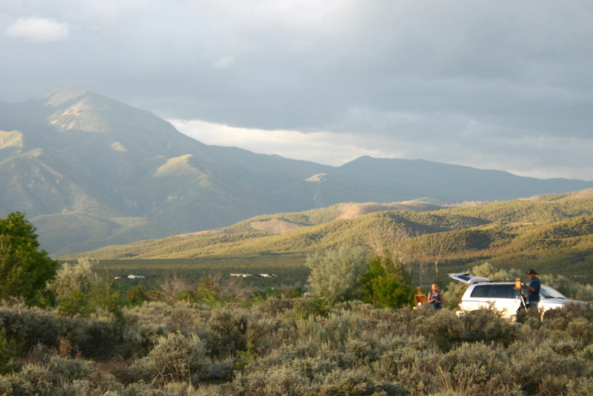
[[[52,256],[347,202],[508,200],[587,189],[429,161],[340,167],[204,145],[150,112],[77,87],[0,102],[0,215]]]

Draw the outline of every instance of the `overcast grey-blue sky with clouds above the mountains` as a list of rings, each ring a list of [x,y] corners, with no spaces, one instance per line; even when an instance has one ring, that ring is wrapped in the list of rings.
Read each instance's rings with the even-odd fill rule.
[[[0,0],[0,100],[68,85],[209,145],[593,179],[593,2]]]

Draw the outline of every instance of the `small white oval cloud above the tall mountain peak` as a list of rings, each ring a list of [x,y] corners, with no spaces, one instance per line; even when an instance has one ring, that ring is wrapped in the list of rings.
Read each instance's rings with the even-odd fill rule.
[[[36,43],[60,41],[68,38],[68,34],[68,24],[38,17],[19,18],[6,28],[7,36]]]

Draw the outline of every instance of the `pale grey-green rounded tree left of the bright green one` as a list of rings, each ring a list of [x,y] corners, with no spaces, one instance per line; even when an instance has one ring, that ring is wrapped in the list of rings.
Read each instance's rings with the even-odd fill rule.
[[[325,298],[330,304],[358,298],[366,256],[362,247],[347,245],[307,256],[306,266],[311,269],[308,282],[313,295]]]

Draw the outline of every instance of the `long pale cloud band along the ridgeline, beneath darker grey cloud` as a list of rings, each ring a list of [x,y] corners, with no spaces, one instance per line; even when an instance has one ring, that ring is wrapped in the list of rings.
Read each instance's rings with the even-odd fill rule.
[[[395,117],[395,116],[394,116]],[[191,138],[207,145],[241,147],[258,154],[278,154],[290,159],[341,166],[359,156],[375,158],[430,159],[480,169],[506,170],[520,176],[566,177],[590,180],[593,138],[525,135],[520,129],[503,131],[500,126],[472,119],[433,119],[421,115],[397,115],[400,123],[415,132],[400,135],[303,133],[290,130],[237,128],[197,119],[168,121]],[[428,134],[439,124],[442,133]],[[461,138],[453,138],[462,129]],[[426,133],[421,138],[414,135]]]

